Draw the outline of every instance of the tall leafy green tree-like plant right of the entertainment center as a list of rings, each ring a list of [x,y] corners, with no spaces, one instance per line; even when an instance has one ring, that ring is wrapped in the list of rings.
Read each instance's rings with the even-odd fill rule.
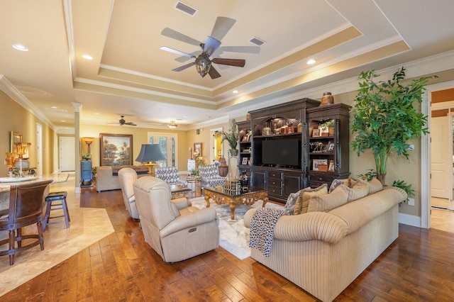
[[[404,85],[405,69],[402,67],[386,82],[374,82],[375,77],[379,74],[373,69],[361,72],[358,77],[360,89],[351,109],[351,147],[358,156],[372,149],[377,179],[384,184],[392,151],[409,160],[406,142],[428,133],[427,116],[418,112],[414,104],[421,103],[428,80],[436,76],[413,79]]]

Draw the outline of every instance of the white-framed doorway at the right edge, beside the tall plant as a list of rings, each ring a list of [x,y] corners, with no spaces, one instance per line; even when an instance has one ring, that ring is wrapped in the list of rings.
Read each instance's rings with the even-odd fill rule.
[[[454,232],[453,87],[453,81],[428,86],[421,106],[431,131],[421,139],[421,228],[450,232]]]

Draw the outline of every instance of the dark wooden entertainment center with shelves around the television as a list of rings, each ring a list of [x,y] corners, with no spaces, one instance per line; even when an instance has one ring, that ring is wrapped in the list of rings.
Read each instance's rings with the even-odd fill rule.
[[[251,189],[266,189],[282,203],[307,186],[348,177],[349,111],[345,104],[320,106],[307,98],[250,111],[250,120],[237,123],[239,171]]]

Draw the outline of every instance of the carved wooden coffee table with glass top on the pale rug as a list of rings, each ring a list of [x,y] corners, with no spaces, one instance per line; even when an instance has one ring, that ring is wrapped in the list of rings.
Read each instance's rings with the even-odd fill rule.
[[[235,194],[232,191],[227,191],[223,187],[214,187],[208,186],[204,188],[204,198],[206,201],[206,208],[210,207],[210,199],[212,199],[217,204],[228,203],[231,211],[231,219],[235,219],[235,209],[237,204],[245,204],[246,206],[252,206],[255,201],[262,200],[263,205],[268,202],[268,191],[267,190],[257,190],[250,191],[246,193]]]

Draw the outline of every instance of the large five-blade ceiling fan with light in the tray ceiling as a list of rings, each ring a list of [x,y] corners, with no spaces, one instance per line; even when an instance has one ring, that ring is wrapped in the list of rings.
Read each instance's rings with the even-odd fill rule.
[[[182,52],[180,50],[175,50],[173,48],[167,47],[167,46],[162,46],[160,47],[161,50],[165,50],[168,52],[173,52],[176,53],[177,55],[182,55],[185,57],[191,57],[195,59],[194,62],[191,62],[187,65],[183,65],[181,67],[177,67],[175,69],[172,69],[174,72],[181,72],[184,69],[187,69],[191,66],[196,67],[197,73],[201,77],[205,77],[206,74],[209,74],[211,79],[216,79],[218,77],[221,77],[221,74],[211,65],[211,63],[216,63],[219,65],[228,65],[228,66],[235,66],[235,67],[244,67],[245,65],[245,60],[238,60],[238,59],[223,59],[220,57],[215,57],[214,59],[210,59],[211,55],[218,49],[218,47],[221,45],[221,39],[226,35],[228,30],[231,29],[233,24],[236,22],[236,20],[232,18],[226,18],[226,17],[218,17],[216,19],[216,23],[214,24],[214,28],[211,31],[211,36],[209,35],[206,38],[205,43],[199,43],[197,40],[194,40],[187,35],[183,35],[182,33],[178,33],[175,30],[172,30],[170,28],[165,28],[162,30],[162,35],[166,35],[170,38],[175,38],[177,40],[182,40],[183,42],[187,42],[189,44],[199,44],[201,47],[201,54],[198,56],[189,54],[187,52]],[[214,38],[213,36],[216,36]]]

